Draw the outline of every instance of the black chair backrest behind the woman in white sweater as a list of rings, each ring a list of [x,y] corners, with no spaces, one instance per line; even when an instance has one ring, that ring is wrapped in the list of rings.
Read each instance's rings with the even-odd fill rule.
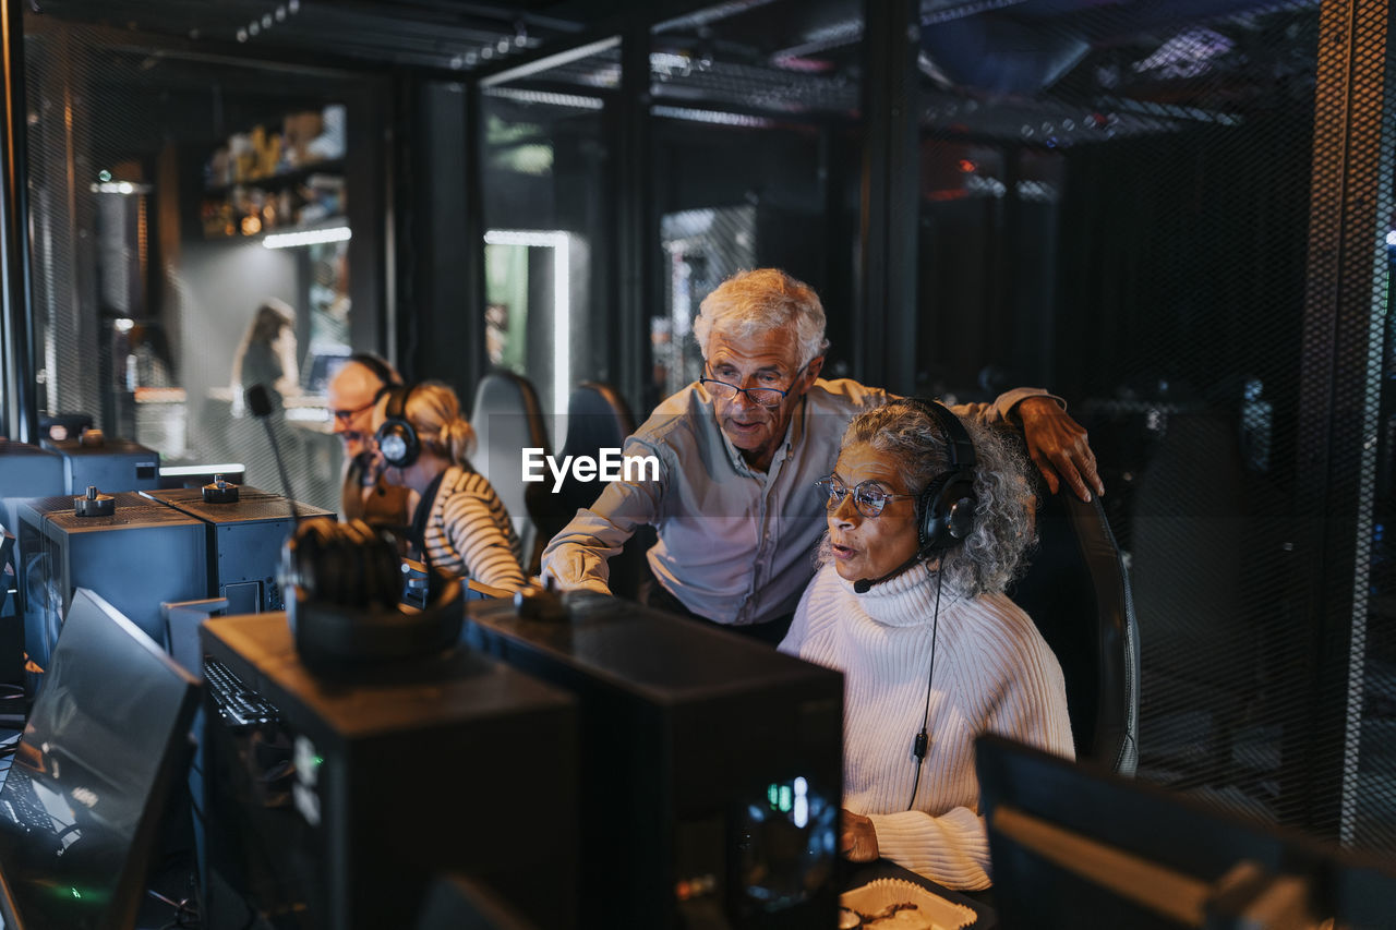
[[[1057,654],[1076,755],[1124,775],[1139,764],[1139,624],[1099,499],[1043,490],[1039,546],[1009,589]]]

